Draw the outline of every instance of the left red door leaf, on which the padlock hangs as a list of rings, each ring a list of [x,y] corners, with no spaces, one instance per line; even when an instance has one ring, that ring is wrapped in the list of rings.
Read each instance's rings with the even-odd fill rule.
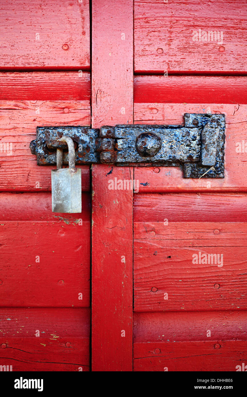
[[[29,144],[37,126],[91,123],[89,2],[0,8],[0,365],[88,371],[89,166],[82,213],[52,213],[54,166],[37,166]]]

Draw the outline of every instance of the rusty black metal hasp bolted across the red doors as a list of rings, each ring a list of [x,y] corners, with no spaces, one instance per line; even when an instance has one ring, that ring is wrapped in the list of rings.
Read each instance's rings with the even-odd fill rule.
[[[76,164],[183,166],[185,178],[224,178],[224,114],[186,113],[184,125],[37,127],[30,148],[38,165],[56,163],[62,135],[75,143]]]

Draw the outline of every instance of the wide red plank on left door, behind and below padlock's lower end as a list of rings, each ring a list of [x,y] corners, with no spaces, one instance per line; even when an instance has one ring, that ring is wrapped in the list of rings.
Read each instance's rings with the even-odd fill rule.
[[[90,197],[80,214],[52,213],[49,193],[0,200],[0,306],[90,306]]]

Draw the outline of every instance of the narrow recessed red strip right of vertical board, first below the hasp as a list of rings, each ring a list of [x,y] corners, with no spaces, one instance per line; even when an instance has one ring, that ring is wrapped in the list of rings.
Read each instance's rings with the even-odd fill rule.
[[[134,222],[246,222],[245,193],[135,194]]]

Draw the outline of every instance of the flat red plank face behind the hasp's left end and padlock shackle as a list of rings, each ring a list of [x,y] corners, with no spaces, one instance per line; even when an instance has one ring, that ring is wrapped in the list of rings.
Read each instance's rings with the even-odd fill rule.
[[[51,191],[51,170],[37,166],[29,144],[36,127],[90,125],[87,101],[0,101],[0,191]],[[11,149],[11,150],[10,150]],[[89,166],[82,169],[82,190],[89,190]]]

